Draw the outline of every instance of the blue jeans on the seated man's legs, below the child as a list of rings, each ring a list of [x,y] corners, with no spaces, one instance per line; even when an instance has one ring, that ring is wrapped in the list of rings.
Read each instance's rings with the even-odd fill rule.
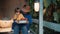
[[[28,34],[28,30],[25,25],[16,24],[14,26],[14,34],[20,34],[20,31],[22,31],[22,34]]]

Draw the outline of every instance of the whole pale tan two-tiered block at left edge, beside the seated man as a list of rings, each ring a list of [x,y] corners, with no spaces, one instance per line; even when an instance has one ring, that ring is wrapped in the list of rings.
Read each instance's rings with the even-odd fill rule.
[[[10,32],[13,20],[0,20],[0,32]]]

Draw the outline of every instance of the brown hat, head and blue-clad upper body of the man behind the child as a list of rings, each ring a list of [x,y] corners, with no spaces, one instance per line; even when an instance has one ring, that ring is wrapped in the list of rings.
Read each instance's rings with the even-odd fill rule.
[[[26,24],[27,30],[29,30],[29,28],[30,28],[30,26],[32,24],[32,16],[29,14],[30,6],[24,5],[21,12],[24,15],[24,17],[27,18],[27,20],[29,21],[29,23]]]

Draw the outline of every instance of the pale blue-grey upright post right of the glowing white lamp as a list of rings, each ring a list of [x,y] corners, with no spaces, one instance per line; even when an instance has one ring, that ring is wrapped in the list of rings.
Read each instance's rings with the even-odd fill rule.
[[[40,0],[39,34],[43,34],[43,0]]]

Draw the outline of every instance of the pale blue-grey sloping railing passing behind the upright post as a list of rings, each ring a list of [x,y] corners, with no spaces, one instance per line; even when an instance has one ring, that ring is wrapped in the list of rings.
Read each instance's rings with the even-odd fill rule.
[[[38,19],[33,19],[33,23],[38,24],[39,20]],[[55,30],[57,32],[60,32],[60,24],[43,21],[43,26],[47,27],[47,28],[50,28],[50,29],[53,29],[53,30]]]

